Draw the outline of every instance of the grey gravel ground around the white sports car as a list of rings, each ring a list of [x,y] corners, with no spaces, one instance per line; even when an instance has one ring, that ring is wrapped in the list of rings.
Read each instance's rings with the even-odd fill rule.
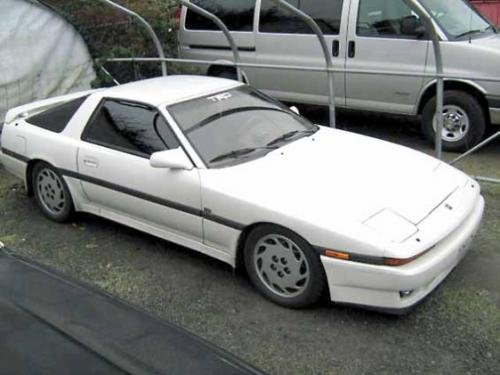
[[[306,115],[323,121],[325,112]],[[417,125],[408,123],[340,116],[348,130],[431,153]],[[500,142],[460,167],[500,177]],[[0,241],[270,373],[498,374],[500,186],[483,184],[483,194],[486,216],[472,251],[441,287],[402,317],[326,300],[307,310],[281,308],[258,295],[244,275],[180,246],[90,215],[77,215],[70,224],[52,223],[1,168]]]

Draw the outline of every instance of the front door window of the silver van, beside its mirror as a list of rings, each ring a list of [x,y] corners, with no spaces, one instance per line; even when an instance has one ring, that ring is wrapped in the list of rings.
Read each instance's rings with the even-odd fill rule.
[[[360,36],[415,39],[418,16],[403,0],[360,0],[356,33]],[[407,30],[408,29],[408,30]]]

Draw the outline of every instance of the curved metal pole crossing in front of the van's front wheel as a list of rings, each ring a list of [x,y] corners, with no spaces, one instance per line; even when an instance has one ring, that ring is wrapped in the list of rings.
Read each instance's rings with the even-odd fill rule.
[[[440,38],[436,26],[427,10],[416,0],[407,0],[412,8],[421,17],[427,32],[431,36],[434,48],[434,59],[436,60],[436,157],[442,158],[442,133],[443,133],[443,102],[444,102],[444,78],[443,78],[443,55],[441,53]],[[410,6],[411,6],[410,5]]]

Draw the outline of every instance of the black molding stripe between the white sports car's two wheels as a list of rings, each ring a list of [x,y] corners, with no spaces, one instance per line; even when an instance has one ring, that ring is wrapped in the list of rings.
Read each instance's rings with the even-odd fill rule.
[[[218,224],[222,224],[226,227],[230,227],[230,228],[233,228],[236,230],[242,230],[245,227],[245,225],[243,225],[243,224],[237,223],[237,222],[229,220],[229,219],[222,218],[222,217],[217,216],[217,215],[213,215],[212,213],[203,212],[203,211],[198,210],[196,208],[192,208],[192,207],[189,207],[189,206],[177,203],[177,202],[172,202],[172,201],[169,201],[167,199],[158,198],[158,197],[155,197],[153,195],[145,194],[145,193],[142,193],[142,192],[137,191],[137,190],[133,190],[133,189],[126,188],[124,186],[116,185],[116,184],[113,184],[113,183],[108,182],[108,181],[104,181],[104,180],[97,179],[94,177],[82,175],[80,173],[69,171],[66,169],[58,169],[58,171],[59,171],[59,173],[61,173],[61,175],[66,176],[66,177],[75,178],[75,179],[78,179],[81,181],[89,182],[89,183],[94,184],[94,185],[102,186],[106,189],[118,191],[120,193],[127,194],[130,196],[139,198],[139,199],[144,199],[148,202],[156,203],[156,204],[168,207],[168,208],[172,208],[172,209],[177,210],[177,211],[182,211],[182,212],[185,212],[185,213],[190,214],[190,215],[199,216],[199,217],[202,217],[204,219],[213,221],[213,222],[218,223]]]

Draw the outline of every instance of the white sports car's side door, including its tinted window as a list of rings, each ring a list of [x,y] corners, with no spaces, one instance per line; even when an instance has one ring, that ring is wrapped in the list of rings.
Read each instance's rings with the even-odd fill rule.
[[[180,147],[154,108],[103,99],[83,131],[78,173],[88,200],[107,215],[201,241],[198,170],[153,168],[152,153]]]

